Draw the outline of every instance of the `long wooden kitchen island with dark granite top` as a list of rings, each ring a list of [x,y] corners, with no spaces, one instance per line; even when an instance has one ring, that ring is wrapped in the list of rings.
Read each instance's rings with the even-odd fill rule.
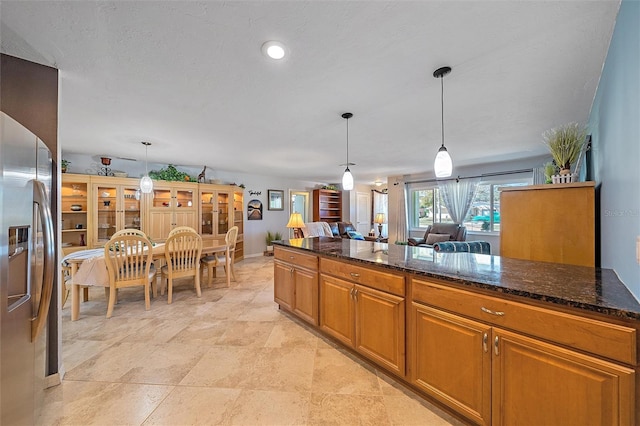
[[[640,304],[611,270],[328,237],[275,244],[282,309],[470,422],[640,419]]]

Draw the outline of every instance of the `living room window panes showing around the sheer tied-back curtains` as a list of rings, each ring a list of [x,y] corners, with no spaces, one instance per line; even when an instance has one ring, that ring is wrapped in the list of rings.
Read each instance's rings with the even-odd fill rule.
[[[467,231],[500,232],[500,191],[509,186],[530,185],[530,179],[510,179],[478,184],[469,213],[463,220]],[[433,223],[453,223],[437,187],[409,189],[410,228],[426,228]]]

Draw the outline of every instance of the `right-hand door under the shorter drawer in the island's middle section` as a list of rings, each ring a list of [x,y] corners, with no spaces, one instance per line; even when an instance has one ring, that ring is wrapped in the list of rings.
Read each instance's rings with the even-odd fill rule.
[[[355,286],[356,349],[404,376],[404,298]]]

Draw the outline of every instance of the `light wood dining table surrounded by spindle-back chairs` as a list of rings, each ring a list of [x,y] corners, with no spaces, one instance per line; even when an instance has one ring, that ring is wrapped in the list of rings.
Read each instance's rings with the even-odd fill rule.
[[[225,254],[225,270],[227,287],[231,285],[231,257],[229,246],[226,244],[206,244],[202,247],[202,256]],[[152,247],[154,262],[165,259],[165,244],[158,243]],[[71,287],[71,321],[80,316],[80,289],[87,291],[88,287],[97,286],[109,289],[109,272],[104,259],[104,248],[78,250],[67,254],[61,261],[64,268],[69,268],[68,285]],[[65,291],[69,291],[65,285]],[[84,300],[88,299],[88,291]],[[63,298],[63,301],[66,298]],[[64,302],[63,302],[64,305]]]

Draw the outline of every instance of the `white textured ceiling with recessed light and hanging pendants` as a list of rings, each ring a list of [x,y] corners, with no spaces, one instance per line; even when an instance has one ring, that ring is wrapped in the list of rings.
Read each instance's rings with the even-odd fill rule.
[[[535,157],[586,122],[612,1],[6,1],[3,53],[60,69],[64,153],[356,182]],[[265,58],[267,40],[289,57]],[[454,169],[455,173],[455,169]]]

